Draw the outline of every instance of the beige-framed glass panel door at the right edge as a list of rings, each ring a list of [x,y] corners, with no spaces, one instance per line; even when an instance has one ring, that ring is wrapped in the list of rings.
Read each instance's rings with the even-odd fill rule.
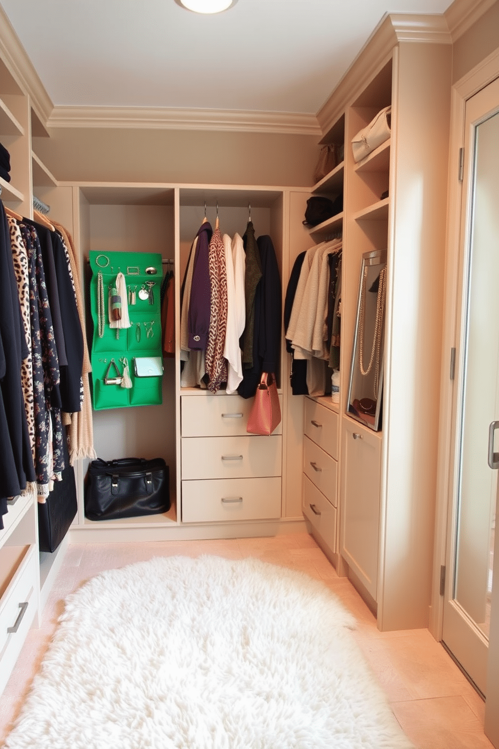
[[[496,436],[491,426],[499,419],[499,112],[497,106],[489,109],[483,91],[467,103],[465,133],[456,452],[443,640],[485,694],[496,463],[499,467],[499,455],[494,459],[499,429]]]

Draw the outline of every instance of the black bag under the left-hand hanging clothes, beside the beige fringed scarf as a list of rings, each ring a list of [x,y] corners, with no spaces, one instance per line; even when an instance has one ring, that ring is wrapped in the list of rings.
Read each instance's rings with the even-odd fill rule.
[[[55,481],[46,501],[38,503],[38,546],[40,551],[55,551],[70,528],[78,512],[75,471],[70,465],[66,440],[62,481]]]

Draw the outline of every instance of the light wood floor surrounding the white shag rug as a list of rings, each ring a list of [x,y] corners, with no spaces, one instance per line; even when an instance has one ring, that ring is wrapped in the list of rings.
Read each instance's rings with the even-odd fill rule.
[[[0,698],[0,743],[55,629],[64,597],[100,571],[160,555],[259,557],[323,580],[355,615],[355,637],[385,689],[399,724],[418,749],[492,749],[483,734],[485,705],[456,664],[426,630],[382,633],[358,593],[307,534],[272,539],[70,545],[43,612]],[[68,748],[70,749],[70,748]]]

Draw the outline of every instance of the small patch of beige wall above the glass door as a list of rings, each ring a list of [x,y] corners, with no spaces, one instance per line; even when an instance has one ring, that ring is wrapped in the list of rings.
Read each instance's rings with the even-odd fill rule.
[[[495,2],[453,45],[453,83],[499,47],[499,2]]]

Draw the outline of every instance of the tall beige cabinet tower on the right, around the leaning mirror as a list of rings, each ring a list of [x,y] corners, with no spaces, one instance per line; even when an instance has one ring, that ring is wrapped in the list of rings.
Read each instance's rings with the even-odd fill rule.
[[[345,158],[313,188],[331,197],[343,190],[343,213],[313,230],[318,241],[343,228],[339,502],[330,527],[321,517],[313,533],[383,630],[429,620],[450,64],[450,35],[436,17],[388,16],[319,113],[323,142],[344,143]],[[352,138],[390,105],[391,138],[355,163]],[[361,259],[383,249],[384,389],[375,432],[346,411]],[[304,470],[310,475],[307,461]],[[323,493],[315,496],[324,503]]]

